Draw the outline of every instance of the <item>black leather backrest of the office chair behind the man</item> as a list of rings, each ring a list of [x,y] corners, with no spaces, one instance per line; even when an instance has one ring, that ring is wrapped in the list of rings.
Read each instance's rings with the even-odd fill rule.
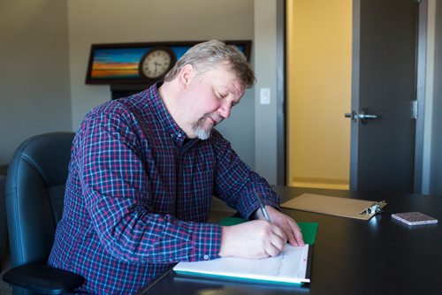
[[[53,132],[25,140],[6,175],[6,216],[11,266],[46,264],[63,214],[73,132]]]

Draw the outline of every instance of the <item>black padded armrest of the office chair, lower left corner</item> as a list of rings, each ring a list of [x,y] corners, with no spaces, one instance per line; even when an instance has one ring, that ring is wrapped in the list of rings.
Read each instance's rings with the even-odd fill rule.
[[[72,292],[84,282],[83,276],[65,269],[28,263],[6,271],[4,282],[44,294]]]

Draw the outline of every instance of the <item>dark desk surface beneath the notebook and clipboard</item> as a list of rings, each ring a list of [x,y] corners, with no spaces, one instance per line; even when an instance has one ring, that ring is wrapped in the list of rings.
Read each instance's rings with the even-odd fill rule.
[[[139,294],[442,294],[442,197],[276,186],[283,201],[301,193],[386,200],[370,221],[283,209],[295,220],[318,222],[311,283],[252,284],[168,271]],[[408,226],[392,213],[421,211],[438,224]]]

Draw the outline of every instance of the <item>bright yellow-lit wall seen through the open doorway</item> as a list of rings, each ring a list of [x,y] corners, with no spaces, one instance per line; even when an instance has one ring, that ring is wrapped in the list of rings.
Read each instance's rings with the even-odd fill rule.
[[[348,187],[351,4],[287,1],[287,185]]]

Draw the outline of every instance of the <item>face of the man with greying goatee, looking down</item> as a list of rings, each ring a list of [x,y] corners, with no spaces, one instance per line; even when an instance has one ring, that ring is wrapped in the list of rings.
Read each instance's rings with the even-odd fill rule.
[[[188,124],[192,130],[187,136],[207,140],[213,127],[230,117],[244,90],[225,64],[195,77],[187,89]]]

